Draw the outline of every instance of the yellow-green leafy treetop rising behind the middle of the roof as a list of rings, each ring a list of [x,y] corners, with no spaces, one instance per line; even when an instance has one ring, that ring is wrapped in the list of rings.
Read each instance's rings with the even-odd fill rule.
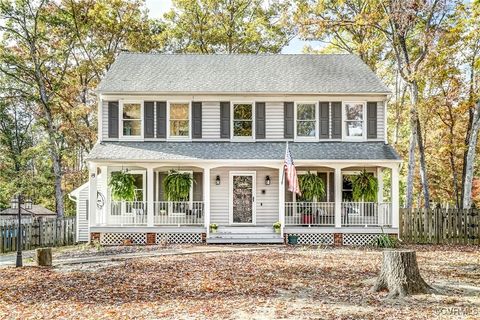
[[[174,0],[165,14],[171,52],[278,53],[292,38],[288,1]]]

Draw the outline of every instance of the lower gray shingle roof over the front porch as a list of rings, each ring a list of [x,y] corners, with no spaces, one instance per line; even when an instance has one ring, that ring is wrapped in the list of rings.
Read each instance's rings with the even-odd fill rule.
[[[399,160],[379,142],[290,142],[296,160]],[[285,142],[102,142],[90,160],[283,160]]]

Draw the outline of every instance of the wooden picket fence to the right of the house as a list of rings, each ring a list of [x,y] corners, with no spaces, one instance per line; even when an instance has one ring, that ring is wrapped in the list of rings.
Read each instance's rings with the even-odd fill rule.
[[[401,209],[400,238],[419,244],[480,244],[478,209]]]

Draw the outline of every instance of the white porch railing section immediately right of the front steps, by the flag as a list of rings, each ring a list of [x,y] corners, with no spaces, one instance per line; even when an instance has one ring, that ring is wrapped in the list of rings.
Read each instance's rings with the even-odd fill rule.
[[[334,202],[285,202],[285,225],[334,226]]]

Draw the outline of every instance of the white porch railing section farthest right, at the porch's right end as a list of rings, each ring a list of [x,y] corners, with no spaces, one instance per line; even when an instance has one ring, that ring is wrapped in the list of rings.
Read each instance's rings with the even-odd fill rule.
[[[391,225],[391,203],[342,202],[342,226]]]

